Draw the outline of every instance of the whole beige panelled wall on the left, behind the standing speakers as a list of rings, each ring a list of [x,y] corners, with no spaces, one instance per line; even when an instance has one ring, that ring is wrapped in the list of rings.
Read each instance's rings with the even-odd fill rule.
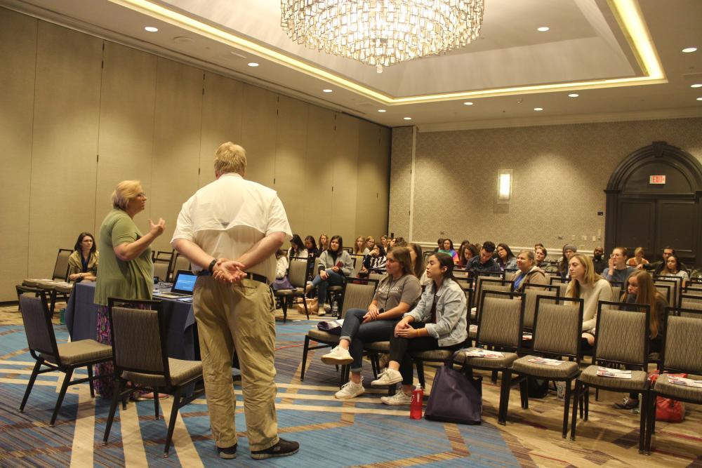
[[[120,180],[166,219],[214,178],[227,140],[247,178],[277,190],[293,232],[379,236],[388,220],[390,130],[0,8],[0,301],[53,271],[58,248],[97,234]]]

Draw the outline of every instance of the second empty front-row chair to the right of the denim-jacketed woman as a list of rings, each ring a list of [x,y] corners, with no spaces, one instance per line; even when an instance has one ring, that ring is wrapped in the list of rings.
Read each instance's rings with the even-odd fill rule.
[[[568,432],[571,382],[580,375],[579,364],[583,356],[581,349],[582,328],[582,299],[537,296],[531,354],[512,363],[512,374],[519,375],[519,394],[522,396],[522,408],[524,409],[529,408],[526,377],[566,382],[563,405],[563,437]],[[568,357],[575,361],[562,361],[558,366],[530,362],[531,359],[538,357],[548,359]],[[505,396],[509,396],[509,392]],[[505,403],[505,408],[507,408],[507,404],[508,402]]]

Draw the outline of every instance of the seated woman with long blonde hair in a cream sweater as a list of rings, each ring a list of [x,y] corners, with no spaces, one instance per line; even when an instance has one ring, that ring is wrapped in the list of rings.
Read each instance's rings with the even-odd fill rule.
[[[612,288],[606,279],[595,273],[592,259],[582,253],[571,255],[569,274],[571,281],[566,296],[583,300],[583,338],[592,347],[597,326],[597,301],[612,300]]]

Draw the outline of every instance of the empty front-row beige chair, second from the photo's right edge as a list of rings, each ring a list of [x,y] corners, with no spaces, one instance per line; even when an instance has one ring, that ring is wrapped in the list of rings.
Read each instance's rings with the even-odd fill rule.
[[[607,307],[605,307],[607,306]],[[639,427],[639,453],[644,450],[647,403],[649,399],[649,305],[632,308],[623,302],[600,301],[597,303],[597,333],[592,349],[592,366],[586,367],[576,380],[573,393],[573,421],[571,440],[575,440],[578,404],[585,405],[585,421],[588,420],[588,397],[590,387],[611,392],[639,392],[642,395],[642,411]],[[614,368],[639,368],[631,370],[631,378],[616,378],[597,375],[606,366]],[[581,401],[584,396],[584,401]]]

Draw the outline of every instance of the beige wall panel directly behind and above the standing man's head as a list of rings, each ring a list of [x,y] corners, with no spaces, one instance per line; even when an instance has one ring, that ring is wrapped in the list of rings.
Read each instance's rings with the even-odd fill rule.
[[[219,145],[227,141],[241,143],[243,88],[244,83],[205,72],[199,187],[215,180],[212,163]]]

